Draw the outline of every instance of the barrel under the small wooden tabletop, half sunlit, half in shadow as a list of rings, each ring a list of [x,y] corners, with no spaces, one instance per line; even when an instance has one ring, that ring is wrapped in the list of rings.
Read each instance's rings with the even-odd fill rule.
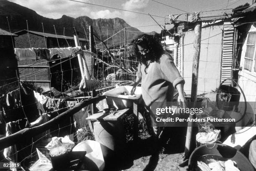
[[[123,123],[114,122],[95,122],[95,140],[100,143],[102,155],[105,161],[105,170],[113,171],[117,168],[130,168],[133,160],[125,141]]]

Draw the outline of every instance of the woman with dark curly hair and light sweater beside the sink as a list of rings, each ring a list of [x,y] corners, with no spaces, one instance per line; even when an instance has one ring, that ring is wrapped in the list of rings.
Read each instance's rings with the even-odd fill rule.
[[[136,86],[141,82],[145,108],[151,115],[151,123],[148,123],[150,122],[148,120],[146,123],[151,135],[159,138],[161,130],[156,126],[151,105],[154,102],[172,102],[175,88],[179,92],[178,102],[184,103],[186,101],[183,91],[185,81],[174,65],[172,56],[163,50],[153,36],[143,34],[134,43],[139,64],[131,94],[134,94]]]

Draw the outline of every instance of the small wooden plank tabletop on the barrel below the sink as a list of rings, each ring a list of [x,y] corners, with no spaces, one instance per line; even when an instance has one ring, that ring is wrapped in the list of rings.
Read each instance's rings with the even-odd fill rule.
[[[111,112],[110,114],[103,114],[103,112],[95,113],[86,118],[86,120],[91,121],[113,121],[118,120],[119,117],[123,116],[128,112],[129,109],[118,110],[116,112]]]

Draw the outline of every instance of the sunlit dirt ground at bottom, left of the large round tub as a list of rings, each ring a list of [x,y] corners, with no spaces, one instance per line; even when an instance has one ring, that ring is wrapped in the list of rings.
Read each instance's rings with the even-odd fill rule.
[[[187,171],[188,166],[181,167],[184,153],[177,154],[159,154],[159,161],[155,171]],[[143,171],[149,162],[150,156],[141,157],[133,161],[133,166],[124,171]]]

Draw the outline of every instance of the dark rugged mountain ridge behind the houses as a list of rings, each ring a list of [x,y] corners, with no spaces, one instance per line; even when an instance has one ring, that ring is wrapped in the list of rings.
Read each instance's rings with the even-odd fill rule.
[[[39,4],[38,4],[39,5]],[[29,8],[23,7],[16,3],[9,2],[8,0],[0,0],[0,28],[4,30],[9,30],[7,18],[9,20],[11,32],[16,32],[20,30],[28,30],[43,32],[42,23],[44,25],[45,33],[55,33],[54,26],[56,28],[56,33],[59,35],[64,34],[65,36],[73,36],[74,27],[76,31],[81,32],[83,35],[80,38],[86,38],[84,33],[84,28],[86,30],[87,36],[89,35],[89,26],[92,25],[95,35],[102,40],[113,36],[125,27],[127,28],[127,43],[130,43],[132,39],[136,38],[138,35],[142,34],[137,28],[133,28],[128,25],[125,20],[121,18],[109,18],[109,19],[92,19],[87,16],[80,16],[78,18],[72,18],[67,15],[63,15],[59,19],[46,18],[38,15],[36,11]],[[97,40],[96,40],[97,41]],[[117,35],[113,36],[108,40],[108,44],[115,43],[116,45],[123,44],[124,41],[124,31],[121,31]],[[120,43],[121,42],[121,43]],[[100,47],[99,47],[100,48]]]

